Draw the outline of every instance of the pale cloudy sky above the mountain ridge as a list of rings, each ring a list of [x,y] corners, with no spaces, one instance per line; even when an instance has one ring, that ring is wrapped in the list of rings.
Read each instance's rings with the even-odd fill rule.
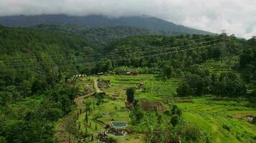
[[[256,0],[0,0],[0,16],[155,16],[195,29],[256,36]]]

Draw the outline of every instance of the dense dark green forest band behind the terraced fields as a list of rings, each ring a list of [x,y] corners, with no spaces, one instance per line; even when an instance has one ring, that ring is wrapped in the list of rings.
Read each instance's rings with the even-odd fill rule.
[[[119,66],[147,67],[147,72],[168,71],[170,77],[183,74],[193,64],[210,59],[234,63],[239,56],[241,68],[250,72],[244,74],[247,81],[254,75],[255,38],[246,41],[225,35],[132,36],[147,32],[124,27],[115,31],[41,25],[36,29],[1,26],[0,30],[2,76],[12,73],[14,79],[20,72],[38,73],[52,68],[95,74]],[[119,32],[128,37],[116,37]]]

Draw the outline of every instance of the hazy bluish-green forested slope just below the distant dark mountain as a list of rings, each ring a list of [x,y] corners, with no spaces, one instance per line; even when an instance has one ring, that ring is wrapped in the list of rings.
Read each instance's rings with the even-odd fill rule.
[[[52,25],[40,24],[34,26],[35,29],[45,30],[49,33],[57,34],[79,34],[83,37],[90,37],[97,44],[106,45],[111,41],[123,39],[127,36],[161,34],[157,31],[150,31],[147,29],[140,29],[132,26],[106,26],[106,27],[86,27],[78,25]]]

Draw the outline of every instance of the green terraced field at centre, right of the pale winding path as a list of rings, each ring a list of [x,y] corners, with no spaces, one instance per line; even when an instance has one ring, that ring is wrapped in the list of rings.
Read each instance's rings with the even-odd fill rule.
[[[140,98],[160,99],[158,97],[173,97],[176,95],[176,89],[179,80],[176,78],[168,79],[163,82],[160,77],[154,74],[141,74],[138,76],[132,75],[109,75],[99,77],[104,80],[110,80],[111,86],[105,89],[105,92],[110,95],[124,95],[128,87],[137,88],[137,94]],[[145,91],[142,91],[140,84],[144,85]]]

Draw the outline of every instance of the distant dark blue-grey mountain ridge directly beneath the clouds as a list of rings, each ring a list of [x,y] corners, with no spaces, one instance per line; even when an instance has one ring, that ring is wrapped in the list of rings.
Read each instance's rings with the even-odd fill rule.
[[[64,14],[45,14],[38,16],[1,16],[4,26],[35,26],[37,24],[80,25],[88,27],[132,26],[161,34],[212,34],[208,31],[192,29],[152,16],[127,16],[109,18],[101,15],[68,16]]]

